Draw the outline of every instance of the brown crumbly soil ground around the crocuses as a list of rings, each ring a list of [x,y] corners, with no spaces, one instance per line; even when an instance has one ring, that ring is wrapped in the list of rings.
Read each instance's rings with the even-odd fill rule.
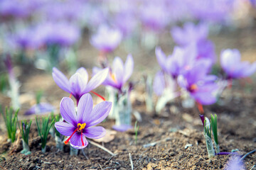
[[[213,38],[216,43],[217,54],[220,52],[220,47],[238,47],[239,42],[245,42],[242,46],[242,55],[244,59],[250,56],[250,60],[255,61],[256,51],[252,50],[255,47],[255,40],[252,41],[250,33],[253,30],[245,30],[240,33],[230,33],[228,35],[219,35]],[[237,35],[235,41],[229,40],[233,35]],[[244,40],[244,36],[247,39]],[[225,43],[222,41],[226,39]],[[233,42],[233,43],[231,43]],[[162,42],[164,43],[164,42]],[[170,42],[171,45],[171,42]],[[167,45],[163,47],[169,49]],[[83,56],[79,57],[80,64],[86,68],[92,68],[96,57],[92,60],[91,56],[97,56],[95,50],[90,50],[90,45],[85,45],[80,53]],[[171,48],[172,49],[172,48]],[[249,50],[247,50],[249,49]],[[171,52],[171,50],[169,50]],[[121,52],[117,51],[117,55]],[[120,57],[124,58],[127,53],[122,53]],[[140,57],[135,58],[135,72],[132,80],[137,82],[135,90],[132,92],[132,103],[135,111],[142,115],[142,122],[139,123],[139,133],[137,136],[137,144],[134,140],[134,130],[127,132],[117,132],[114,140],[104,145],[111,152],[105,152],[95,145],[89,144],[85,149],[85,155],[80,152],[78,156],[70,156],[70,148],[65,145],[64,152],[60,152],[55,148],[53,137],[48,135],[48,143],[46,153],[41,152],[40,138],[37,135],[36,124],[33,121],[31,134],[29,138],[29,147],[31,154],[25,156],[20,153],[22,146],[21,140],[14,145],[6,142],[6,130],[4,122],[1,118],[0,123],[0,169],[132,169],[129,154],[132,157],[134,169],[224,169],[225,164],[230,158],[229,155],[216,156],[213,159],[208,159],[206,151],[206,142],[203,137],[203,127],[201,120],[198,117],[197,108],[182,108],[180,99],[169,103],[164,111],[156,115],[146,111],[144,103],[144,86],[139,84],[141,70],[146,70],[146,67],[153,69],[148,70],[149,73],[154,73],[159,67],[155,66],[156,59],[154,52],[150,52],[150,60],[144,60],[142,56],[145,53],[140,53]],[[89,62],[87,62],[89,61]],[[17,67],[21,73],[18,80],[21,81],[21,101],[22,108],[19,112],[18,119],[27,119],[24,111],[31,107],[35,101],[34,94],[38,88],[45,91],[42,101],[47,101],[56,107],[56,113],[59,113],[58,106],[63,96],[69,96],[54,83],[50,74],[46,74],[38,69],[27,69],[28,67]],[[137,76],[135,76],[137,75]],[[220,141],[220,152],[231,152],[233,149],[238,149],[239,154],[244,155],[256,149],[256,81],[252,78],[252,84],[244,84],[244,80],[235,81],[232,90],[225,91],[221,102],[212,106],[205,106],[206,116],[210,113],[218,115],[218,132]],[[103,89],[97,89],[97,92],[103,93]],[[96,103],[100,102],[99,98],[94,96]],[[0,94],[0,103],[8,106],[10,99],[4,94]],[[135,118],[132,121],[135,123]],[[101,123],[103,127],[111,129],[114,125],[113,120],[106,120]],[[155,142],[155,143],[154,143]],[[255,167],[256,153],[249,154],[243,160],[246,169],[256,169]]]

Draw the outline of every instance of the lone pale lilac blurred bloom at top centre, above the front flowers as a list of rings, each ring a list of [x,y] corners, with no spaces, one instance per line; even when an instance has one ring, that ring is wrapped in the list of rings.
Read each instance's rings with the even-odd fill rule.
[[[90,43],[102,52],[112,52],[121,40],[122,33],[119,30],[102,25],[97,30],[97,33],[92,35]]]

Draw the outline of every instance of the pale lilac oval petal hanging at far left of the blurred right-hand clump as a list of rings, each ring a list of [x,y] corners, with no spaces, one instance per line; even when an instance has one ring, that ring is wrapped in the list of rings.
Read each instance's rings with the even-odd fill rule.
[[[163,94],[165,88],[165,80],[164,80],[164,73],[159,71],[156,73],[153,82],[153,90],[157,96],[161,96]]]

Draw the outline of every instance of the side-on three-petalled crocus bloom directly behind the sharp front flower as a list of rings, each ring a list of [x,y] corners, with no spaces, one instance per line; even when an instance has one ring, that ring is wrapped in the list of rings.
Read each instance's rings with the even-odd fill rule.
[[[95,89],[97,86],[100,86],[103,81],[107,78],[109,69],[103,69],[102,71],[95,74],[95,76],[90,79],[88,82],[88,73],[85,68],[81,67],[80,69],[73,74],[72,77],[68,80],[65,75],[60,72],[57,68],[53,68],[53,79],[55,83],[68,93],[72,94],[75,99],[79,102],[80,97],[83,94]]]

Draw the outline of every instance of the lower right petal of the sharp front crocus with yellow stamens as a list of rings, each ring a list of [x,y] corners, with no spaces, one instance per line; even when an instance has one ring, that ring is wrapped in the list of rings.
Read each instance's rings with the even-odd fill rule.
[[[106,135],[106,130],[101,126],[85,129],[85,136],[92,139],[99,139],[101,137],[104,137],[105,135]]]

